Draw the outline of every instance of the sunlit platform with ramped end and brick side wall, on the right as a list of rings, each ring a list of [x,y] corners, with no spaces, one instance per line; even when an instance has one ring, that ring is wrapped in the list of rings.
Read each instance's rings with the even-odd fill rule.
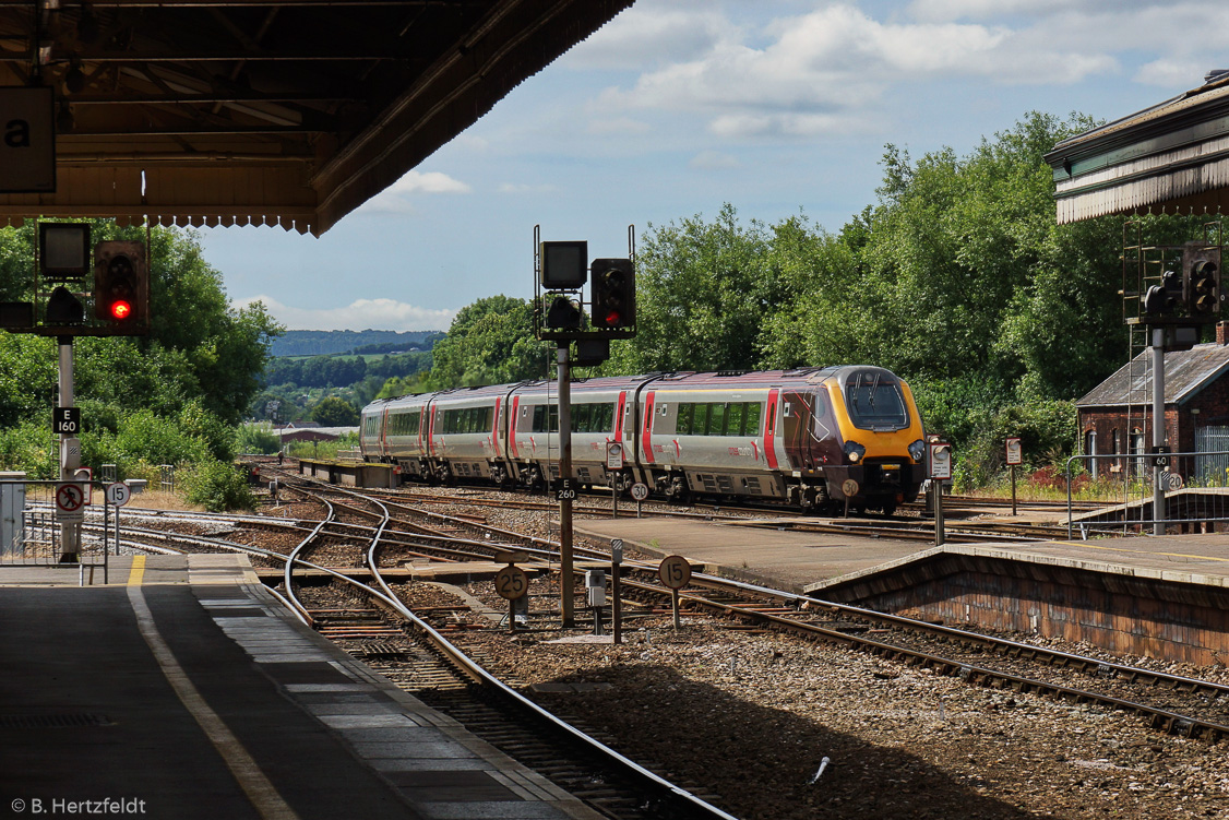
[[[1229,534],[927,547],[677,519],[574,526],[653,556],[681,554],[710,574],[838,604],[1229,665]]]

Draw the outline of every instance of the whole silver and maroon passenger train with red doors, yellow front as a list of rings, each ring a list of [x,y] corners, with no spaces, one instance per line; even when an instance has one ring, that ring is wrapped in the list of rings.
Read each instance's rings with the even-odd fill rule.
[[[576,380],[570,407],[580,484],[891,514],[925,477],[913,396],[882,368]],[[360,446],[403,478],[542,488],[559,477],[558,429],[556,382],[528,381],[372,402]],[[606,468],[611,441],[622,470]]]

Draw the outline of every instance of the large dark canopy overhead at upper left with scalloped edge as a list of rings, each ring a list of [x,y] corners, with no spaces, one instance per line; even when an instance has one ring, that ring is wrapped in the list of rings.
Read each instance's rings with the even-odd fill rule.
[[[0,224],[318,235],[633,1],[4,0],[0,86],[52,89],[55,191]]]

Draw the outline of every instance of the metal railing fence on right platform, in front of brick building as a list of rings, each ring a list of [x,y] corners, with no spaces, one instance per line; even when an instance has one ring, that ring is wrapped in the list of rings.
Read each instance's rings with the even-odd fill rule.
[[[1229,430],[1223,439],[1201,439],[1196,452],[1072,456],[1066,470],[1067,536],[1144,534],[1158,525],[1166,535],[1229,531],[1227,445]],[[1158,459],[1164,504],[1154,513]]]

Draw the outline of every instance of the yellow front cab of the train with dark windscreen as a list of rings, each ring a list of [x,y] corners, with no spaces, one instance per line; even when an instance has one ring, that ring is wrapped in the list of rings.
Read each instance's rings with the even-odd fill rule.
[[[812,454],[826,460],[831,498],[844,503],[846,482],[853,479],[858,488],[848,500],[855,508],[890,515],[914,500],[925,478],[925,445],[908,385],[882,368],[842,368],[823,390],[837,435],[816,443]],[[816,427],[822,422],[816,418]]]

